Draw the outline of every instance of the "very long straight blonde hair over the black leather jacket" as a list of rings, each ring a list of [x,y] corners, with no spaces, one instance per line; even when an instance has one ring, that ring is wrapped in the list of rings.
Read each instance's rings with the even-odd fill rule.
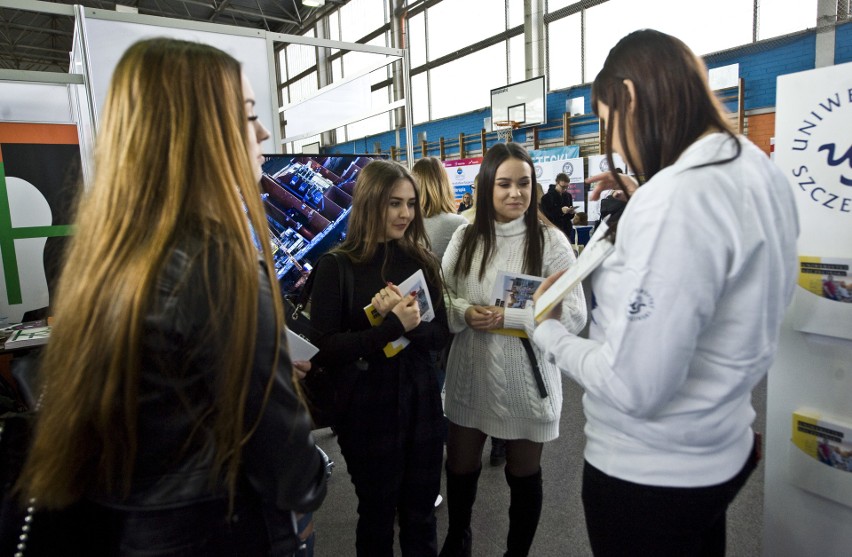
[[[40,506],[62,508],[90,491],[129,492],[144,320],[169,254],[188,237],[202,246],[200,287],[213,316],[200,337],[220,339],[211,358],[221,366],[216,400],[196,429],[211,431],[211,481],[224,472],[233,498],[251,430],[244,413],[257,335],[250,227],[266,226],[247,118],[239,62],[216,48],[152,39],[119,61],[53,307],[41,369],[45,399],[19,483]],[[268,242],[261,244],[275,285]],[[278,339],[276,288],[273,303]]]

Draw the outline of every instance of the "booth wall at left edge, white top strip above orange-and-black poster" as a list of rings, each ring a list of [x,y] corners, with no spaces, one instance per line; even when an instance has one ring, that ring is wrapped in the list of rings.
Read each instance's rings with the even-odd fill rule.
[[[50,304],[79,183],[78,75],[0,70],[0,325]]]

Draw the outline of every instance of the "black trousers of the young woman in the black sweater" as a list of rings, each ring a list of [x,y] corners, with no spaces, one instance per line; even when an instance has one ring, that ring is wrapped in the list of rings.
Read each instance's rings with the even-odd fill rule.
[[[362,372],[336,426],[358,496],[355,544],[361,557],[393,557],[396,520],[402,555],[437,555],[441,397],[434,372],[424,380],[410,371]]]

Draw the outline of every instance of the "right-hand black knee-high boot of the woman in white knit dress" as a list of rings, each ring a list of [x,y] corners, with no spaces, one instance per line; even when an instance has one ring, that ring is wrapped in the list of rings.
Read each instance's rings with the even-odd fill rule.
[[[511,492],[506,557],[526,557],[541,516],[541,468],[532,476],[521,478],[506,469],[506,482]]]

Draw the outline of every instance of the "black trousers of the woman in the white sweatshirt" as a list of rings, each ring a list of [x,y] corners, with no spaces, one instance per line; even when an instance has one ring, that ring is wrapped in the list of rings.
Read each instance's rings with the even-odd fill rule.
[[[752,471],[757,446],[730,480],[698,488],[658,487],[583,468],[583,508],[596,557],[725,555],[725,514]]]

